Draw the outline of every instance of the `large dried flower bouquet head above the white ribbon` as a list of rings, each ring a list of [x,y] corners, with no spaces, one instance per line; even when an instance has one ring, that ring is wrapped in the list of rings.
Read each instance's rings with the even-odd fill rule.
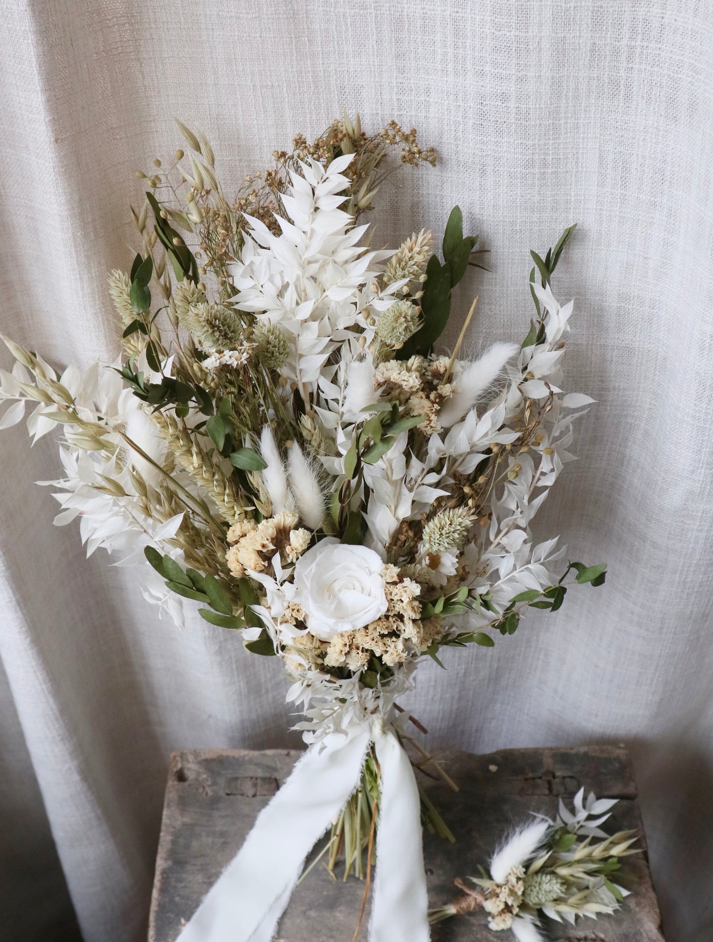
[[[440,252],[426,229],[373,248],[363,221],[390,150],[434,162],[415,131],[368,137],[345,116],[229,198],[207,139],[181,129],[189,154],[138,173],[140,251],[109,278],[120,355],[57,371],[7,339],[0,427],[29,406],[35,440],[60,430],[55,522],[79,517],[88,552],[138,564],[177,622],[197,609],[282,658],[306,736],[390,722],[422,656],[492,646],[604,581],[531,529],[592,401],[563,391],[572,302],[551,286],[574,227],[532,252],[522,344],[472,328],[467,357],[475,302],[440,342],[480,267],[460,209]]]

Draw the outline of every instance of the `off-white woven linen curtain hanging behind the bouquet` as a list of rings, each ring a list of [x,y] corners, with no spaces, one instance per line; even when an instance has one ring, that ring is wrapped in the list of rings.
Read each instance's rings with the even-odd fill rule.
[[[670,942],[713,936],[710,641],[713,7],[694,0],[5,0],[0,325],[58,365],[118,352],[106,291],[135,252],[136,168],[173,116],[228,192],[293,134],[358,109],[416,124],[435,170],[382,188],[374,240],[442,234],[459,203],[492,272],[469,342],[528,330],[529,250],[578,230],[567,388],[597,404],[536,521],[605,588],[493,650],[419,671],[432,747],[624,742]],[[8,367],[7,351],[0,355]],[[280,666],[55,528],[50,436],[0,435],[0,924],[33,942],[145,937],[168,755],[296,745]]]

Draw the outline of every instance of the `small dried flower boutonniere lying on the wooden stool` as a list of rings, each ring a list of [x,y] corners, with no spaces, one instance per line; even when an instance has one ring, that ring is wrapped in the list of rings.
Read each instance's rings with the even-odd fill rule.
[[[601,830],[616,803],[594,792],[585,802],[580,788],[572,813],[561,799],[556,820],[534,820],[504,839],[489,873],[468,877],[471,885],[456,880],[463,895],[432,910],[431,922],[483,908],[493,931],[511,929],[519,942],[544,942],[540,913],[572,924],[578,917],[613,915],[630,891],[612,878],[624,857],[641,853],[633,847],[636,832],[607,836]]]

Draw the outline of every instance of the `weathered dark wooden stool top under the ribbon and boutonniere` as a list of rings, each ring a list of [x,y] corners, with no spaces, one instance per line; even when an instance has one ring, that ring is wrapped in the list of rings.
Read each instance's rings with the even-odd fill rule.
[[[289,775],[299,753],[286,750],[193,750],[171,756],[156,878],[150,942],[174,942],[183,920],[237,853],[258,812]],[[491,755],[451,752],[439,761],[459,785],[457,793],[421,776],[421,785],[450,825],[454,845],[424,834],[429,900],[458,896],[455,877],[477,872],[498,837],[529,811],[554,817],[560,796],[580,785],[597,798],[619,798],[610,826],[636,828],[642,819],[629,756],[624,749],[508,749]],[[569,804],[569,803],[568,803]],[[570,804],[571,806],[571,804]],[[608,822],[609,824],[609,822]],[[663,942],[658,902],[645,853],[629,857],[633,895],[614,917],[580,919],[576,927],[544,920],[550,939],[579,942]],[[278,942],[351,942],[364,894],[356,878],[335,881],[322,863],[297,886],[279,926]],[[366,938],[369,912],[359,937]],[[512,934],[503,934],[503,942]],[[483,912],[433,927],[434,942],[494,942]]]

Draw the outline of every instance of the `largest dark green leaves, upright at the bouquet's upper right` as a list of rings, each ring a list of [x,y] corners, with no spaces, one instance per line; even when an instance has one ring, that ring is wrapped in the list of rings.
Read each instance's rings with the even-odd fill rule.
[[[407,360],[415,353],[428,355],[446,329],[451,316],[452,289],[466,274],[477,235],[463,235],[463,213],[454,206],[443,235],[443,259],[432,255],[426,266],[426,281],[420,299],[423,326],[397,351],[397,359]]]

